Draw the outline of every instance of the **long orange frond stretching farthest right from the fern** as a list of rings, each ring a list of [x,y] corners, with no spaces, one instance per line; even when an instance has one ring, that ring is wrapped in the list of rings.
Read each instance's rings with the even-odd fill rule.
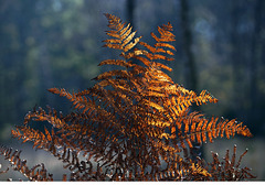
[[[177,139],[180,142],[186,141],[190,148],[192,148],[191,142],[202,144],[202,142],[206,142],[206,138],[212,142],[213,139],[223,138],[224,134],[227,139],[234,137],[235,133],[252,137],[250,130],[242,122],[237,123],[235,119],[229,121],[212,117],[211,120],[208,120],[198,112],[192,112],[186,118],[179,118],[176,121],[176,127],[171,128],[171,133],[173,134],[169,138]],[[186,148],[186,145],[182,146]]]

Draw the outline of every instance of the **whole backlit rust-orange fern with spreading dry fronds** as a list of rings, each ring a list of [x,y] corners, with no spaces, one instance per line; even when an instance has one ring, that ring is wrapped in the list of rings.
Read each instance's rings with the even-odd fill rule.
[[[206,90],[199,95],[188,90],[163,72],[171,68],[162,62],[173,61],[174,41],[170,23],[151,33],[153,45],[136,37],[130,24],[112,14],[105,47],[119,51],[121,59],[106,59],[99,66],[116,65],[123,69],[105,72],[94,78],[96,84],[78,92],[51,88],[50,92],[65,97],[73,104],[66,116],[49,108],[29,112],[23,126],[12,135],[33,142],[61,160],[72,173],[63,181],[218,181],[254,178],[248,168],[240,168],[229,152],[224,162],[213,154],[213,162],[192,159],[189,151],[218,137],[231,139],[235,134],[252,137],[250,130],[235,119],[210,119],[190,107],[218,102]],[[134,62],[132,62],[134,58]],[[135,63],[138,61],[138,63]],[[31,121],[47,121],[52,129],[39,131]],[[80,160],[80,153],[86,157]],[[20,152],[0,148],[0,154],[14,170],[31,181],[53,181],[44,164],[29,168],[20,160]],[[92,160],[95,160],[96,166]],[[162,167],[162,163],[166,167]],[[36,168],[39,168],[36,171]],[[4,173],[4,171],[2,172]],[[235,174],[235,176],[233,176]]]

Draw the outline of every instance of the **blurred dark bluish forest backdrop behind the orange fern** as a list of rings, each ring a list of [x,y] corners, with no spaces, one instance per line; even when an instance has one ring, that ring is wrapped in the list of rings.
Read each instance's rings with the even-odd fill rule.
[[[97,66],[115,58],[102,47],[104,13],[131,22],[145,42],[151,42],[157,25],[172,23],[177,52],[168,64],[170,76],[220,100],[201,108],[206,115],[237,118],[250,127],[254,138],[235,141],[242,151],[240,144],[248,144],[247,165],[265,179],[264,0],[0,0],[0,142],[13,142],[11,128],[22,124],[34,106],[70,110],[47,88],[85,89],[107,69]],[[221,150],[219,142],[204,150]]]

